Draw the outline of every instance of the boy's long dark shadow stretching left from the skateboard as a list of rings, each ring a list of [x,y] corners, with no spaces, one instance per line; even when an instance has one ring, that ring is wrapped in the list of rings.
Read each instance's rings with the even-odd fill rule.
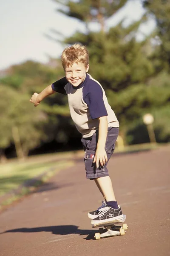
[[[22,228],[17,228],[13,230],[6,230],[0,235],[5,234],[5,233],[36,233],[36,232],[51,232],[54,235],[70,235],[70,234],[78,234],[79,236],[87,235],[86,240],[91,240],[94,239],[94,230],[81,230],[79,229],[78,226],[75,225],[62,225],[62,226],[48,226],[48,227],[22,227]]]

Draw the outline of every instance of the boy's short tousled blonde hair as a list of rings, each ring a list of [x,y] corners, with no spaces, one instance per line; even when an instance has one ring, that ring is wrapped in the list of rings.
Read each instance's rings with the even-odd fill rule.
[[[85,67],[89,64],[89,53],[82,44],[73,44],[66,47],[61,55],[62,67],[71,67],[74,63],[82,62]]]

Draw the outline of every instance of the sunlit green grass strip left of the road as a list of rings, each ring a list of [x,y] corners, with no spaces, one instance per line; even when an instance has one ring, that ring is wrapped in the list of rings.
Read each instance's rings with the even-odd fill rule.
[[[34,184],[34,186],[38,186],[54,173],[72,164],[73,162],[71,160],[53,160],[47,162],[47,159],[44,161],[41,159],[41,162],[38,160],[36,163],[36,158],[31,162],[2,164],[0,165],[0,196],[5,195],[13,189],[17,189],[26,180],[40,176]],[[42,174],[44,174],[44,177]]]

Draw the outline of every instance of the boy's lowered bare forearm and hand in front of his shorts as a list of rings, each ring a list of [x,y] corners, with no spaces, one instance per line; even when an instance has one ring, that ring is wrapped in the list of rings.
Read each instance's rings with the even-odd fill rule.
[[[99,117],[99,139],[97,142],[96,152],[94,156],[94,163],[96,162],[96,167],[99,168],[99,163],[104,166],[108,161],[108,157],[105,151],[105,143],[108,134],[108,117]]]

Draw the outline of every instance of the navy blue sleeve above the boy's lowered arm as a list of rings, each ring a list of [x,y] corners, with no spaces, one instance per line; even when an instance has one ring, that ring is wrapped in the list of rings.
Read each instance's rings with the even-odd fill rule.
[[[96,82],[88,86],[88,93],[85,93],[83,97],[85,103],[88,105],[90,115],[92,119],[99,118],[101,116],[108,116],[103,101],[103,91],[99,84]]]

